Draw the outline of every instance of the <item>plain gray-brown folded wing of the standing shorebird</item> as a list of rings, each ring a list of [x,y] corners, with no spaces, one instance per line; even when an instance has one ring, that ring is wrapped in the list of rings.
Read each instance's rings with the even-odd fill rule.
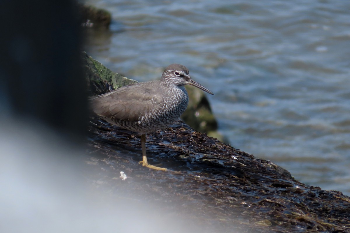
[[[140,116],[162,107],[158,93],[152,82],[141,82],[92,97],[90,105],[99,116],[138,121]]]

